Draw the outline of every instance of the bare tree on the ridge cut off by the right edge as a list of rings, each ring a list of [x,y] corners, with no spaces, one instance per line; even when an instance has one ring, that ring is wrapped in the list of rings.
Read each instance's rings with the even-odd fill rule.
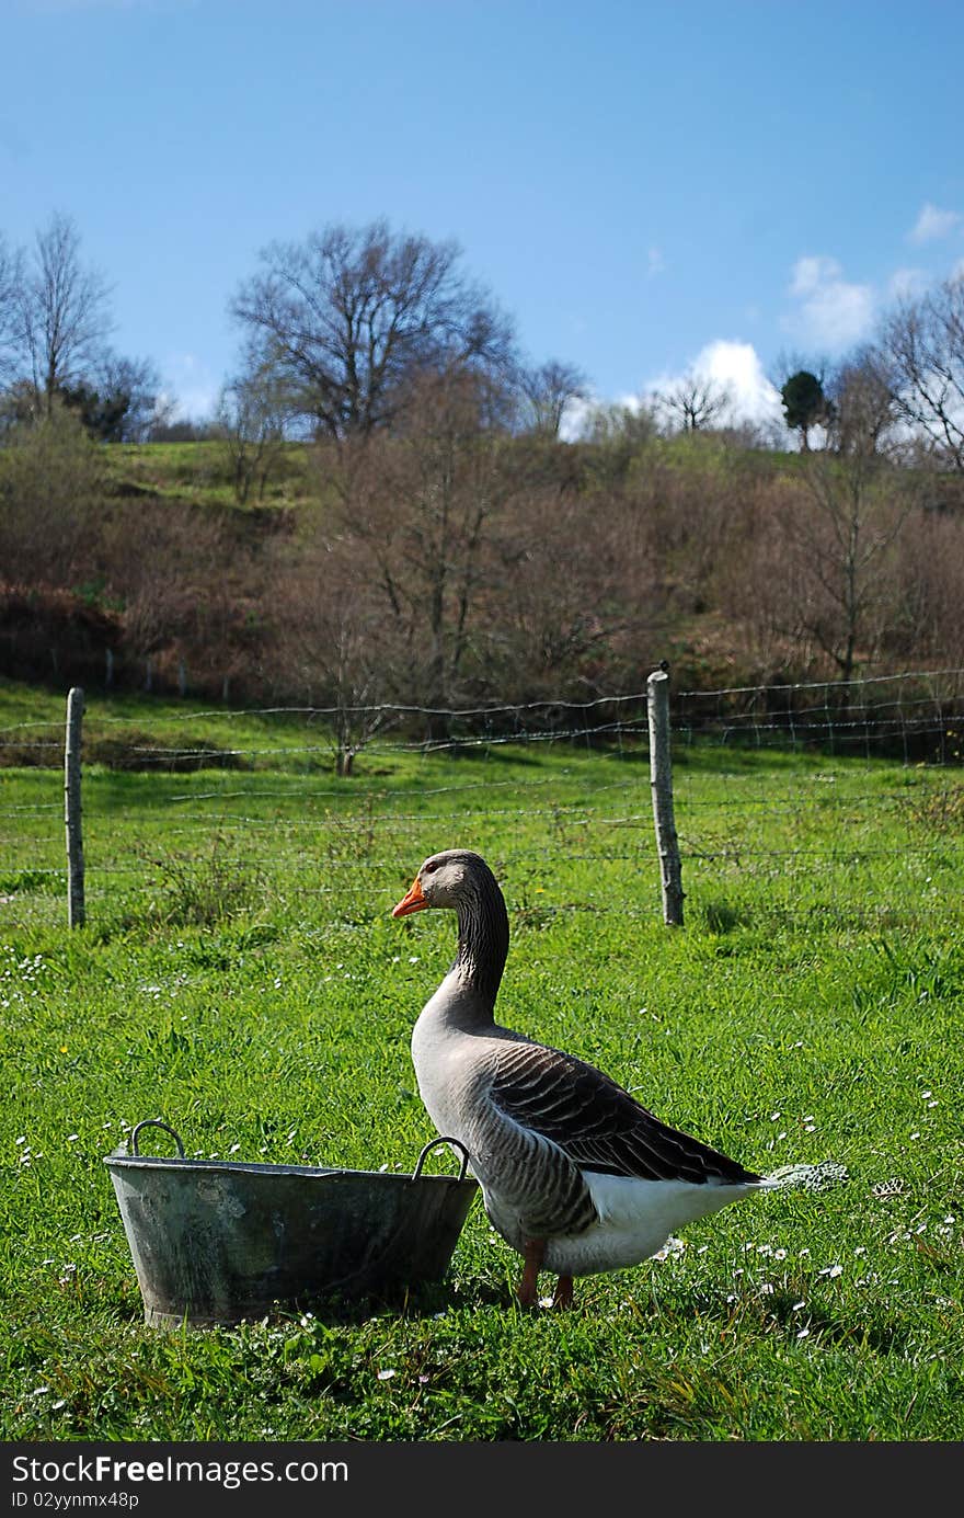
[[[887,317],[882,349],[897,414],[964,471],[964,273]]]

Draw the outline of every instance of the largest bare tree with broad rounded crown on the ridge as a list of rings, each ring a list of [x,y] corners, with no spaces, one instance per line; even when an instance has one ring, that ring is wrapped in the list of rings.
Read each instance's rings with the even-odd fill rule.
[[[512,325],[458,260],[386,222],[328,226],[267,247],[231,311],[319,434],[367,436],[396,420],[413,370],[509,361]]]

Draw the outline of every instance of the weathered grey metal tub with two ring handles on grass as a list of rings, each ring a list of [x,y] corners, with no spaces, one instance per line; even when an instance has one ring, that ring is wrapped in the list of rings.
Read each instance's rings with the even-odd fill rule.
[[[176,1158],[141,1155],[162,1128]],[[424,1175],[439,1145],[462,1149],[454,1175]],[[411,1175],[307,1164],[187,1160],[159,1117],[105,1155],[131,1246],[144,1321],[211,1327],[439,1281],[478,1183],[455,1138],[433,1138]]]

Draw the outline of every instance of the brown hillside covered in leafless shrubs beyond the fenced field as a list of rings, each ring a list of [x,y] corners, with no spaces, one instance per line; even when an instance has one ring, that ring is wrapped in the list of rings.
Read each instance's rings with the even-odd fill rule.
[[[964,663],[959,481],[729,434],[465,425],[0,451],[0,672],[340,707]]]

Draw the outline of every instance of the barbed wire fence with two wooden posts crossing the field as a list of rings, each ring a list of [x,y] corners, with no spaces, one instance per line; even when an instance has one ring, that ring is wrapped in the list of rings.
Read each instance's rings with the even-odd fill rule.
[[[666,733],[665,750],[673,754],[674,776],[654,765],[654,682],[668,697],[671,742]],[[662,890],[663,921],[682,924],[680,871],[709,870],[724,879],[735,870],[815,867],[840,853],[864,868],[885,858],[891,850],[877,842],[876,821],[906,806],[902,768],[926,777],[931,820],[941,821],[943,806],[950,823],[918,829],[905,847],[925,861],[962,847],[959,779],[950,789],[947,780],[964,754],[962,669],[679,692],[671,691],[665,671],[654,671],[645,689],[583,703],[165,712],[155,732],[144,732],[143,721],[88,716],[82,745],[76,733],[65,742],[62,729],[58,733],[50,723],[0,732],[3,762],[20,759],[41,776],[64,759],[67,871],[62,855],[58,862],[52,858],[53,829],[50,846],[36,850],[36,824],[46,817],[53,823],[64,805],[49,786],[38,788],[36,802],[6,809],[12,827],[6,842],[14,852],[35,852],[21,876],[47,891],[64,882],[76,924],[83,921],[80,753],[94,909],[124,882],[147,888],[152,868],[155,883],[158,870],[184,874],[185,861],[205,849],[209,868],[235,883],[244,876],[287,874],[298,890],[317,891],[311,868],[320,858],[328,882],[339,873],[370,877],[373,871],[390,876],[390,893],[399,864],[411,871],[452,835],[506,853],[506,836],[521,836],[525,827],[527,842],[519,844],[518,858],[510,855],[510,865],[531,868],[539,858],[565,853],[571,865],[622,867],[624,879],[645,871],[653,891]],[[216,738],[190,736],[197,724],[208,724]],[[264,742],[252,742],[252,727]],[[352,759],[364,756],[361,786],[345,777],[346,741],[354,744]],[[501,773],[501,761],[521,762],[550,745],[556,757],[565,754],[565,764],[547,773],[537,765],[530,773],[518,773],[518,765],[512,776]],[[490,761],[483,767],[487,773],[474,770],[462,779],[457,767],[445,765],[465,754]],[[750,765],[753,754],[774,764]],[[591,776],[581,764],[589,757],[595,761]],[[802,767],[794,759],[809,762]],[[380,768],[390,771],[399,761],[417,762],[417,783],[380,779]],[[876,773],[877,761],[890,761],[884,776]],[[700,785],[706,765],[715,774],[712,794]],[[155,777],[149,803],[144,791],[135,798],[121,791],[120,771]],[[814,846],[806,827],[808,814],[826,812],[827,805],[841,817],[832,850],[826,842]],[[152,812],[164,817],[167,858],[152,847]],[[184,852],[175,858],[172,846]]]

